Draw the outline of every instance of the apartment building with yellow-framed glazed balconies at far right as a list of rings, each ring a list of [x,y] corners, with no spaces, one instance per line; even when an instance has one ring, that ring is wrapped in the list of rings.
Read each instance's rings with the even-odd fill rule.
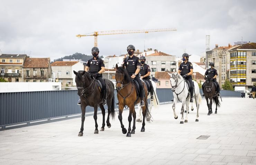
[[[228,51],[230,82],[250,89],[256,83],[256,43],[246,43]]]

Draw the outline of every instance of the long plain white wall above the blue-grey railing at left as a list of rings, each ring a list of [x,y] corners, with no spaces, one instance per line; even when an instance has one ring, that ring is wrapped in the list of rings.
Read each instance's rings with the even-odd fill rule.
[[[0,82],[0,93],[61,90],[60,82]]]

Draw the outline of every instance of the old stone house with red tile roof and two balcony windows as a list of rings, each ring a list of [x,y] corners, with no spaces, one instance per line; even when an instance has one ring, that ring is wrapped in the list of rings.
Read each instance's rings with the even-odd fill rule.
[[[23,66],[25,82],[48,82],[52,76],[50,58],[26,58]]]

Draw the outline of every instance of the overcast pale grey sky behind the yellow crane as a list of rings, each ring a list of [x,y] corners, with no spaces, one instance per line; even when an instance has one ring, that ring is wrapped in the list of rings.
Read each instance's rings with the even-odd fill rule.
[[[236,41],[256,42],[255,0],[0,0],[0,50],[51,60],[75,52],[90,54],[93,37],[107,30],[177,28],[177,31],[98,36],[100,55],[126,53],[129,44],[180,56],[200,55]]]

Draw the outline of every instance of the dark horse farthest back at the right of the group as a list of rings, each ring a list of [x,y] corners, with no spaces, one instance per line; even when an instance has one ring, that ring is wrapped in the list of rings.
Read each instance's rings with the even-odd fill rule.
[[[217,90],[210,77],[207,77],[203,84],[203,93],[208,106],[208,115],[212,114],[212,101],[216,104],[215,113],[217,113],[217,107],[220,107],[220,101],[217,96]],[[208,99],[210,99],[210,104]]]

